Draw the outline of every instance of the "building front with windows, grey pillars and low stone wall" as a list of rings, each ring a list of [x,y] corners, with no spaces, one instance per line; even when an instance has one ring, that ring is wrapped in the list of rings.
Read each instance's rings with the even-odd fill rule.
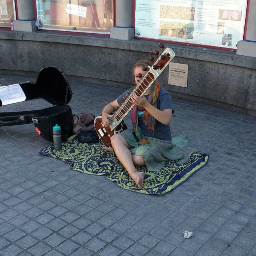
[[[256,116],[256,2],[214,1],[0,0],[0,73],[57,66],[127,88],[134,63],[163,42],[188,64],[186,88],[168,84],[168,70],[158,78],[172,96]]]

